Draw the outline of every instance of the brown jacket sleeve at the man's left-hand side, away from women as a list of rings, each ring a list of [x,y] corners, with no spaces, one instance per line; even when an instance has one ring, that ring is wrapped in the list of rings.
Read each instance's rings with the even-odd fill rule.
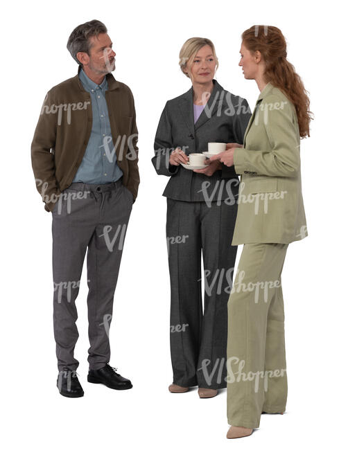
[[[36,188],[45,203],[45,210],[51,211],[60,195],[60,188],[55,179],[54,148],[57,134],[57,114],[51,113],[54,107],[52,93],[49,91],[31,143],[31,165],[35,176]]]

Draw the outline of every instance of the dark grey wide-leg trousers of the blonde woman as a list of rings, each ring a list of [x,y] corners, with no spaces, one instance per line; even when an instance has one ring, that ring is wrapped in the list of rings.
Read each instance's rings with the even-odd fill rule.
[[[167,199],[171,361],[179,386],[226,387],[227,302],[237,204]],[[202,312],[203,255],[205,285]]]

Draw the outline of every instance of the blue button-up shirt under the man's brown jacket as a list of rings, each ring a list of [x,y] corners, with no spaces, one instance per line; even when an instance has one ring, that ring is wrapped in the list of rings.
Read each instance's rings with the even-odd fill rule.
[[[93,123],[85,155],[72,182],[105,184],[117,181],[122,177],[123,172],[117,165],[116,152],[113,150],[114,144],[112,143],[109,113],[105,99],[106,77],[101,84],[96,84],[87,77],[83,69],[80,70],[78,76],[82,86],[91,96]],[[109,139],[104,141],[107,136],[109,136]]]

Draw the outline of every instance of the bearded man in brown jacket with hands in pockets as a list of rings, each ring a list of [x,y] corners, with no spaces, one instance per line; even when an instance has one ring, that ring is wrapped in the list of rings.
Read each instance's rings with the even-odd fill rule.
[[[132,384],[109,365],[109,327],[125,232],[139,186],[138,132],[129,87],[116,81],[115,53],[98,20],[77,26],[67,48],[78,74],[46,94],[31,156],[37,190],[52,213],[53,325],[57,386],[82,397],[75,300],[87,251],[89,373],[112,389]]]

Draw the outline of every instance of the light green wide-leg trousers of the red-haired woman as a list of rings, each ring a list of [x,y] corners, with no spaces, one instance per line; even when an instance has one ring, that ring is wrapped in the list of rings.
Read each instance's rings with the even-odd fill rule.
[[[281,271],[288,244],[244,244],[228,300],[227,419],[257,428],[286,408]]]

